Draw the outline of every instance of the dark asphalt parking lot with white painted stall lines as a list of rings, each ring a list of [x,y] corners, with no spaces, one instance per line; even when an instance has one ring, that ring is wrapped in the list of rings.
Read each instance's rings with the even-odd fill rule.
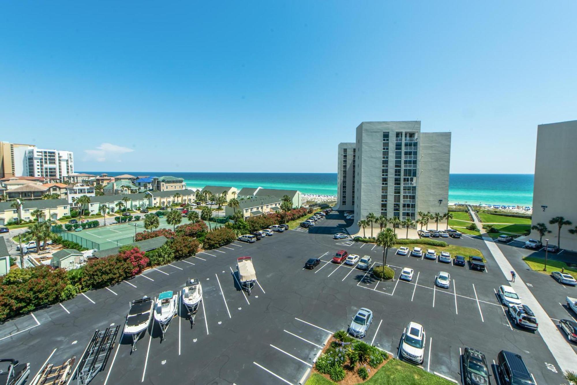
[[[154,325],[132,354],[131,341],[119,333],[121,343],[93,384],[297,384],[329,335],[346,329],[361,307],[374,314],[365,341],[395,356],[404,326],[411,320],[421,323],[427,334],[422,366],[430,372],[460,382],[459,355],[470,346],[484,352],[489,364],[501,349],[518,352],[538,384],[563,382],[539,332],[518,329],[505,314],[495,291],[507,284],[507,278],[482,241],[447,240],[479,248],[488,260],[486,273],[394,255],[395,250],[390,250],[387,264],[395,270],[395,280],[380,282],[353,266],[329,262],[339,249],[369,255],[374,266],[382,262],[380,247],[332,239],[333,233],[343,232],[344,225],[340,214],[332,213],[308,231],[275,233],[253,244],[235,242],[39,309],[2,325],[0,351],[30,362],[32,374],[48,357],[55,364],[73,355],[80,358],[96,329],[123,326],[130,301],[158,296],[164,290],[177,292],[194,277],[204,293],[192,329],[182,312],[173,319],[162,343]],[[252,256],[258,278],[250,296],[238,290],[232,274],[236,258],[243,255]],[[304,262],[311,257],[322,262],[314,270],[305,270]],[[403,267],[414,269],[413,281],[398,280]],[[439,271],[451,274],[449,289],[434,285]],[[557,288],[546,275],[533,281],[523,278],[563,299],[567,295],[563,290],[574,289]],[[533,292],[538,296],[537,290]],[[538,298],[552,318],[561,317],[553,315],[553,304]],[[556,309],[559,314],[562,310],[561,306]]]

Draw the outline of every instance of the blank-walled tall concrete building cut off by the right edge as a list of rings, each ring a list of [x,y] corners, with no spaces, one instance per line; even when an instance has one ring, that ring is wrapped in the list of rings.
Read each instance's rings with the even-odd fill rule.
[[[537,126],[537,152],[535,153],[535,182],[533,186],[533,218],[531,225],[544,223],[550,234],[543,237],[550,244],[559,246],[556,224],[549,224],[554,217],[564,217],[572,225],[561,228],[560,247],[577,250],[577,234],[569,229],[577,226],[577,120]],[[531,232],[539,239],[539,233]]]

